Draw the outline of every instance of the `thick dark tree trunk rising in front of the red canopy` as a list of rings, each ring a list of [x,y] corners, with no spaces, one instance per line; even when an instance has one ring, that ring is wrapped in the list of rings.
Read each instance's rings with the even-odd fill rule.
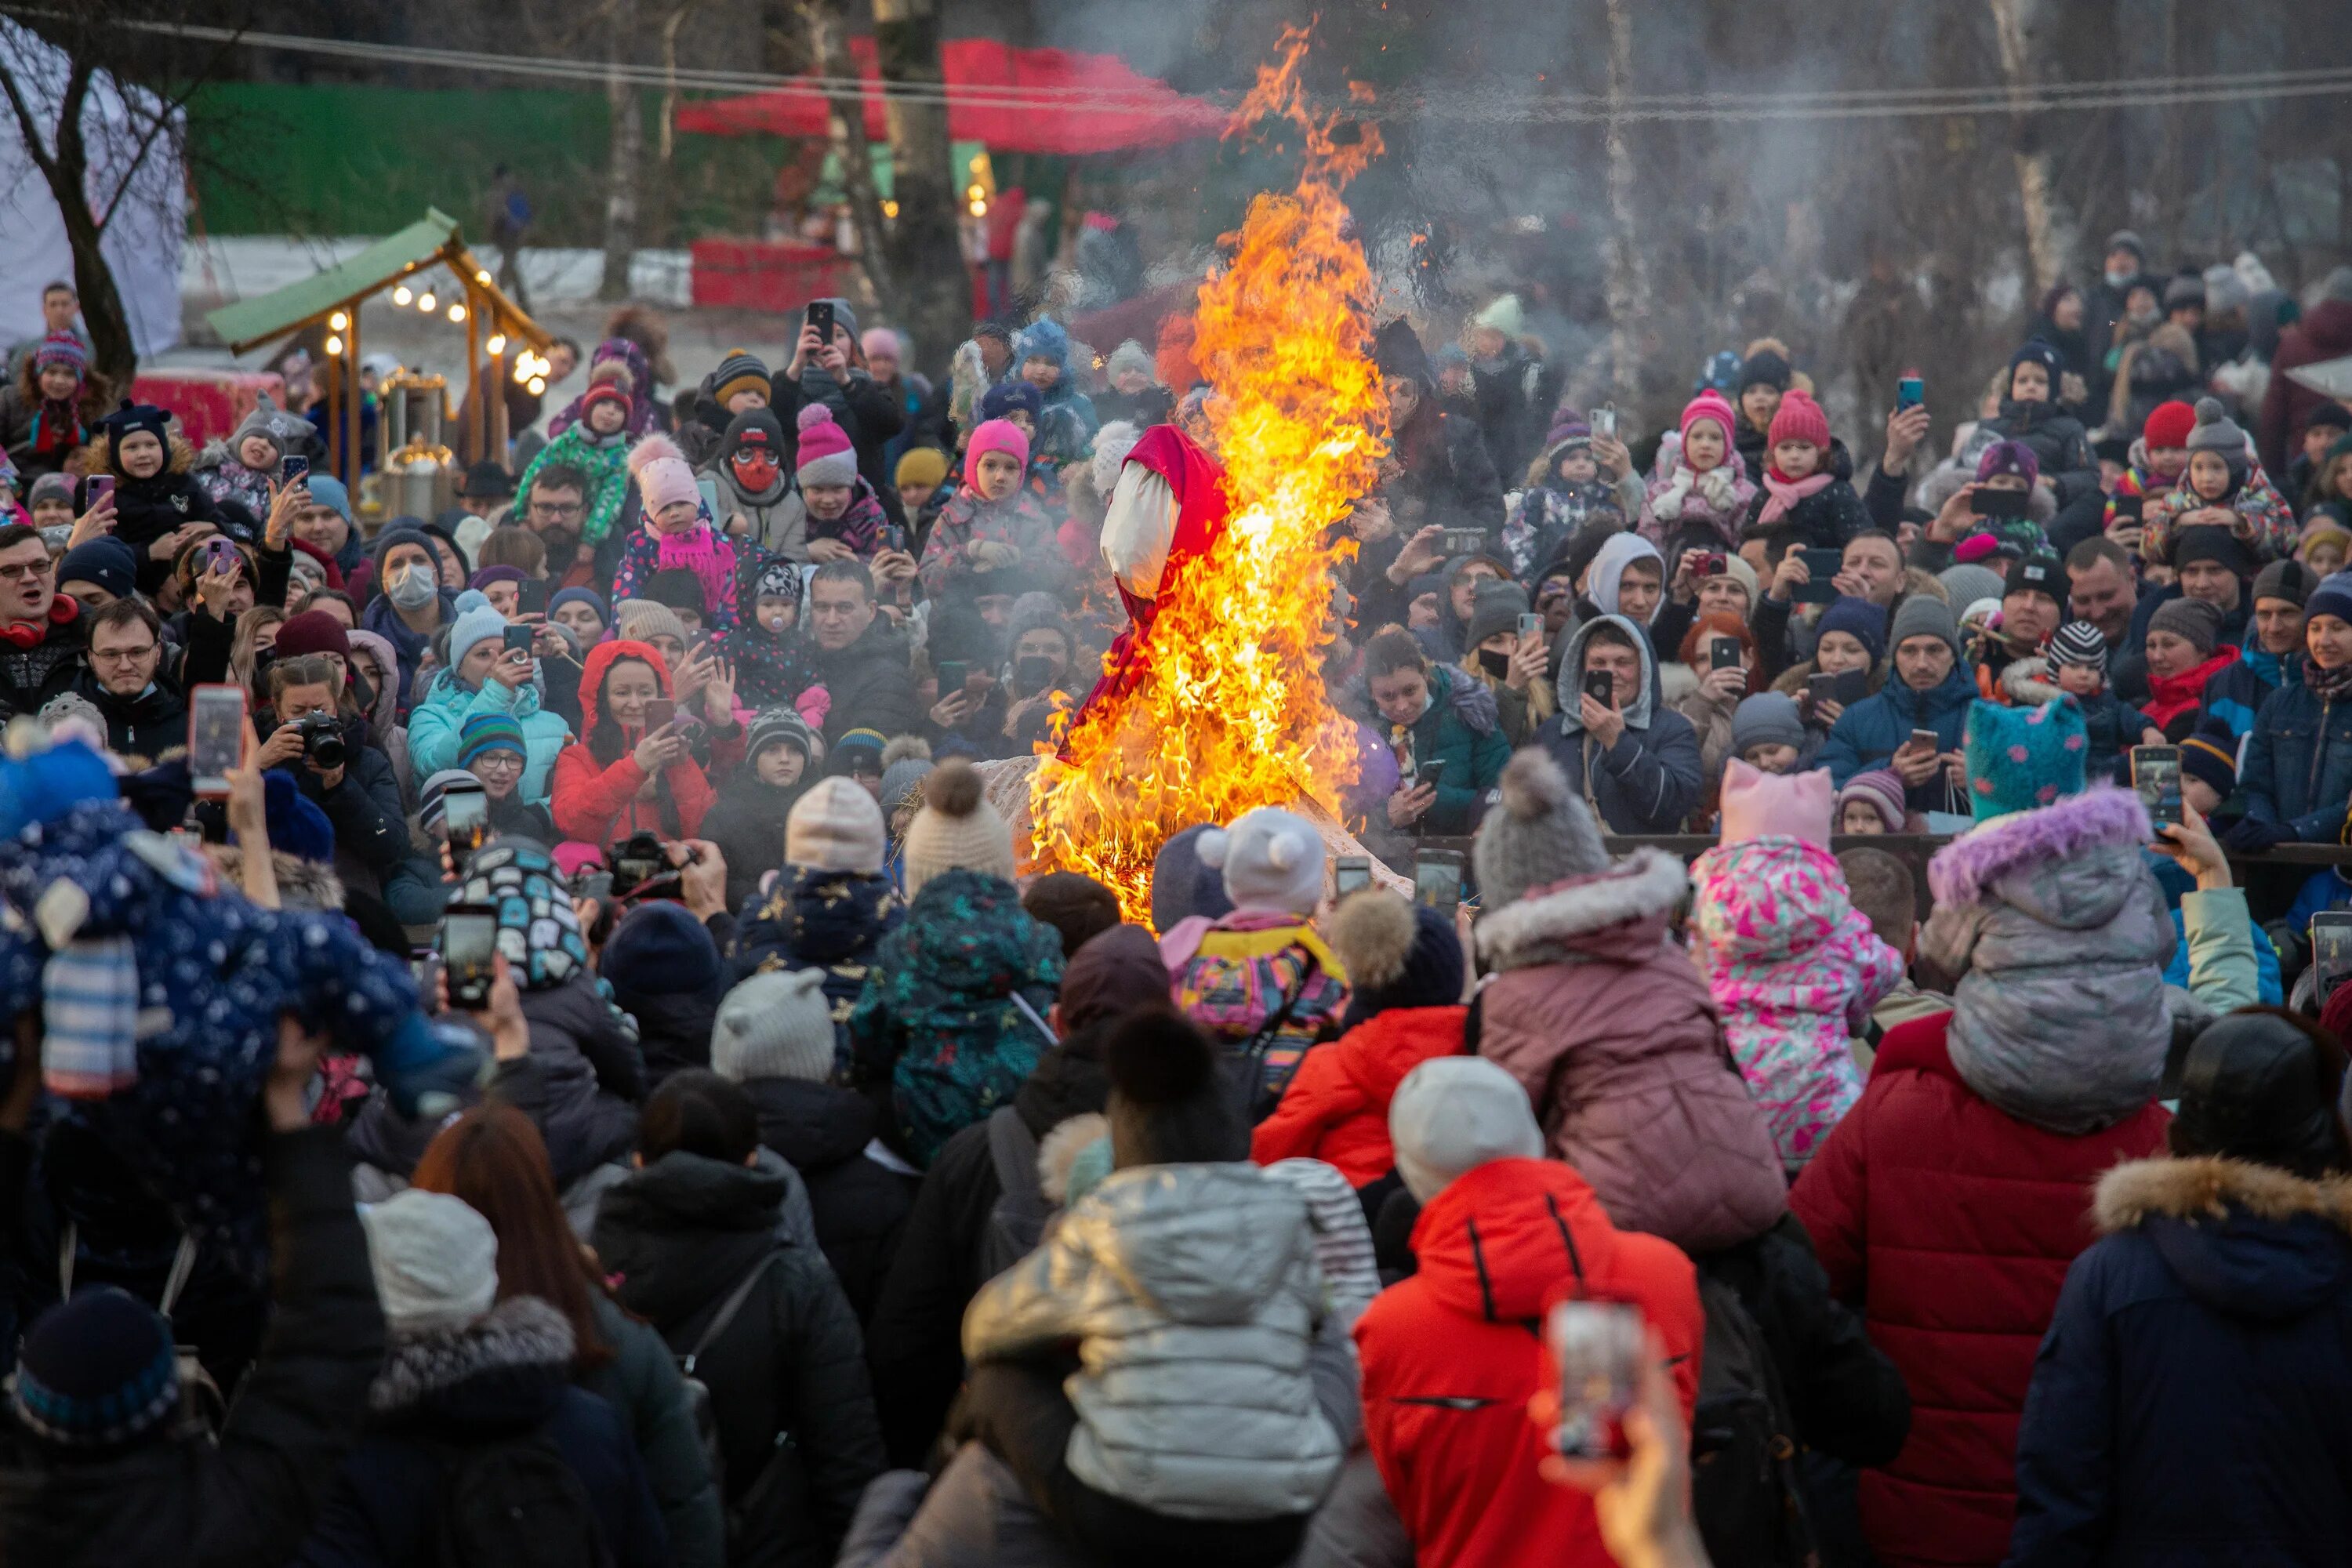
[[[941,87],[936,0],[875,0],[875,54],[884,82]],[[898,282],[896,313],[927,364],[946,374],[971,334],[971,287],[957,244],[960,176],[950,167],[948,106],[887,99],[891,221],[884,247]],[[913,369],[913,362],[908,364]]]

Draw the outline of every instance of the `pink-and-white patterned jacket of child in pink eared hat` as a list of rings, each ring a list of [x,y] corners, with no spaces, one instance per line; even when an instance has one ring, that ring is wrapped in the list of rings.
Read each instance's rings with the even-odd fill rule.
[[[1691,879],[1691,959],[1780,1164],[1799,1171],[1863,1098],[1851,1039],[1903,978],[1903,954],[1853,907],[1846,872],[1820,844],[1717,844]]]

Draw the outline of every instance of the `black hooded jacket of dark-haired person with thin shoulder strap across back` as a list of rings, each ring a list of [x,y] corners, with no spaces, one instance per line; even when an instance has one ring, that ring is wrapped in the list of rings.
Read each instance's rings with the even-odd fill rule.
[[[717,1418],[727,1505],[755,1502],[736,1530],[736,1563],[816,1568],[833,1561],[858,1495],[882,1474],[882,1434],[833,1269],[776,1232],[783,1192],[767,1171],[670,1152],[604,1194],[595,1251],[621,1305],[680,1354],[762,1272],[701,1352],[699,1375]],[[743,1542],[755,1552],[741,1554]]]

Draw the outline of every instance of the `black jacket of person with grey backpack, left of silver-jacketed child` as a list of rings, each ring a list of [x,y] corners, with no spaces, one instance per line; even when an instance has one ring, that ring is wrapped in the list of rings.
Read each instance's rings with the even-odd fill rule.
[[[1033,1138],[1070,1117],[1103,1110],[1110,1081],[1096,1063],[1108,1030],[1080,1030],[1037,1058],[1014,1095]],[[967,1126],[938,1147],[915,1192],[898,1255],[866,1328],[891,1465],[920,1467],[964,1382],[964,1307],[985,1284],[981,1241],[1004,1197],[988,1152],[988,1124]]]

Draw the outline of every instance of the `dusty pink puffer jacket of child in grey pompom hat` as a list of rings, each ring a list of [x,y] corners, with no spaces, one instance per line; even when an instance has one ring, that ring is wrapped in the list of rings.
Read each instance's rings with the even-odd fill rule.
[[[1682,860],[1639,849],[1484,917],[1503,973],[1479,994],[1479,1056],[1519,1079],[1548,1152],[1621,1229],[1698,1255],[1778,1220],[1788,1182],[1715,997],[1668,936],[1686,886]]]

